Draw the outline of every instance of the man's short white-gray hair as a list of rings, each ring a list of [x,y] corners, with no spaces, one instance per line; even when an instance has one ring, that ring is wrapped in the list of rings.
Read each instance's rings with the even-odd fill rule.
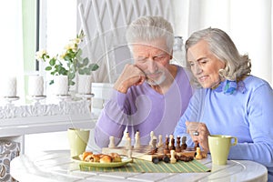
[[[126,30],[126,40],[132,51],[134,44],[147,44],[158,39],[165,39],[168,53],[174,45],[172,25],[161,16],[142,16],[132,22]]]

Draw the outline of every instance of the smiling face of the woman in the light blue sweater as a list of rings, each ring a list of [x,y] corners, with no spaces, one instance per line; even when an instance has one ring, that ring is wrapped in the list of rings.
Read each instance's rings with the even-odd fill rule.
[[[217,86],[221,81],[218,71],[225,67],[225,63],[210,52],[205,40],[187,49],[187,62],[193,75],[204,88]]]

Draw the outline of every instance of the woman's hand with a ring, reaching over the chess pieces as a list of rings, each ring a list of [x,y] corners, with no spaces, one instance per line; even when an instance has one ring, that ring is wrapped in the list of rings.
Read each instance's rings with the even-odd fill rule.
[[[198,142],[198,144],[207,153],[209,151],[208,136],[210,134],[207,130],[206,124],[200,123],[200,122],[186,121],[186,126],[187,126],[187,133],[191,136],[192,140],[194,142]]]

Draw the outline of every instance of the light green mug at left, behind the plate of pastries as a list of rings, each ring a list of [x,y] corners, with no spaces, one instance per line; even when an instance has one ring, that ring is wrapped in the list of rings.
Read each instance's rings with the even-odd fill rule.
[[[80,128],[69,128],[67,130],[70,146],[70,156],[75,157],[86,151],[90,130]]]

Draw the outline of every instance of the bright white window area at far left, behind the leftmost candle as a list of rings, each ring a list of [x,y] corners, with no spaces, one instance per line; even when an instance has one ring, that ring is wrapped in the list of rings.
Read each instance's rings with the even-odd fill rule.
[[[8,76],[17,78],[17,96],[24,100],[24,59],[23,59],[23,27],[22,2],[1,1],[0,3],[0,83]],[[0,95],[3,94],[3,87]],[[19,101],[20,102],[20,101]]]

